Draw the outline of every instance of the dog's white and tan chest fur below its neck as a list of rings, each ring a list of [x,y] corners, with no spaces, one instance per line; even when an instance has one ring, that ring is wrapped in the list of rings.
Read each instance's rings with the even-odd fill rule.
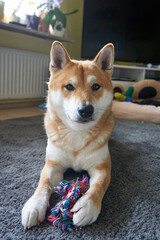
[[[95,138],[87,131],[61,129],[59,134],[52,132],[50,135],[47,154],[65,168],[87,170],[107,157],[108,146],[104,144],[106,137],[106,133]],[[101,145],[103,147],[99,148]]]

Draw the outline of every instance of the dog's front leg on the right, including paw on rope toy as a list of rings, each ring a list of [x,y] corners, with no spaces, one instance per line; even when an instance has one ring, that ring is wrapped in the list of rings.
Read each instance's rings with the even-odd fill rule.
[[[93,223],[101,211],[101,202],[110,183],[110,156],[105,162],[88,169],[88,173],[90,188],[72,208],[73,223],[77,226]]]

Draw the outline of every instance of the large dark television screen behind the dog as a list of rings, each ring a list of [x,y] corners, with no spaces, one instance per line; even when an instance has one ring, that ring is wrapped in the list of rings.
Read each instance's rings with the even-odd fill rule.
[[[116,61],[160,64],[160,1],[84,0],[82,58],[109,42]]]

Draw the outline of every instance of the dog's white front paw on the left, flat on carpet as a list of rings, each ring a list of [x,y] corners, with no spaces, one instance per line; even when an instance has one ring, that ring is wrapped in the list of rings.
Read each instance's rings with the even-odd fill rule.
[[[32,196],[22,209],[22,225],[25,229],[40,224],[45,219],[48,202],[46,198]]]

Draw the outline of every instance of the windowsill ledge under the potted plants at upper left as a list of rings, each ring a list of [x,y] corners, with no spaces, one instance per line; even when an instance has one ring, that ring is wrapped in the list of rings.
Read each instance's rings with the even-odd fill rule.
[[[74,43],[73,40],[70,40],[68,38],[54,36],[54,35],[39,32],[39,31],[36,31],[33,29],[28,29],[25,27],[17,26],[15,24],[11,24],[11,23],[8,24],[8,23],[0,22],[0,29],[11,31],[11,32],[17,32],[17,33],[21,33],[21,34],[26,34],[26,35],[30,35],[30,36],[37,37],[37,38],[49,39],[49,40],[53,40],[53,41],[57,40],[60,42]]]

